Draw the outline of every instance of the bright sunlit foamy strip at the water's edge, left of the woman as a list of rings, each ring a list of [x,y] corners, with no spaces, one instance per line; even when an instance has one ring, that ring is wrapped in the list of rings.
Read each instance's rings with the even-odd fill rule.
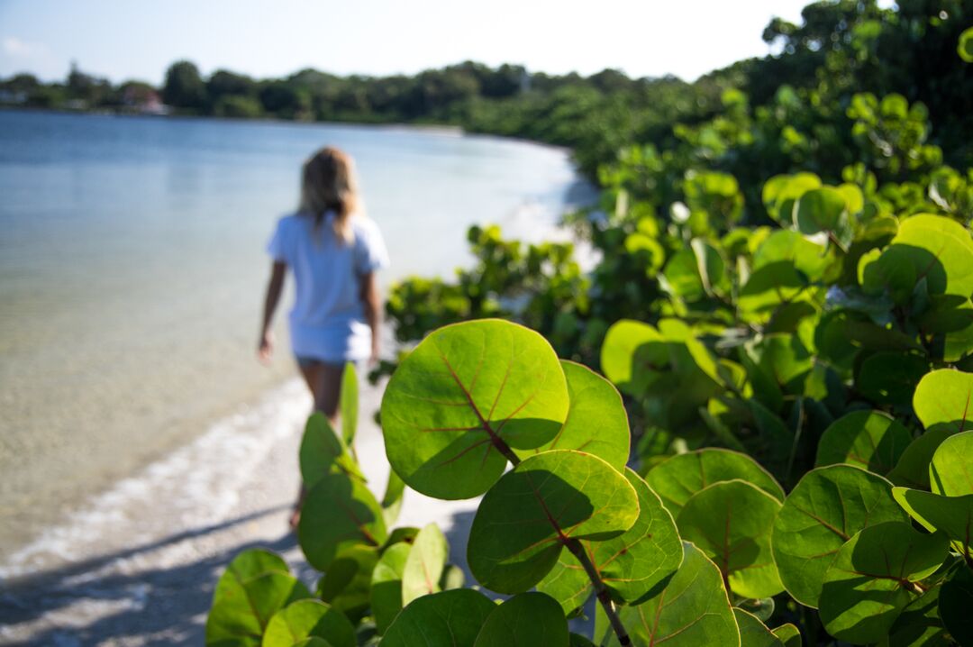
[[[310,397],[300,379],[218,420],[189,445],[95,496],[0,564],[0,580],[90,559],[225,518],[268,452],[304,425]],[[297,457],[294,475],[296,479]],[[153,511],[153,508],[155,510]],[[150,512],[151,511],[151,512]]]

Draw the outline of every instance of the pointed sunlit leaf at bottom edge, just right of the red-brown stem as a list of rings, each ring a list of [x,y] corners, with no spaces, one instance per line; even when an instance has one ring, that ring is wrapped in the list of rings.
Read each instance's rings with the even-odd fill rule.
[[[622,624],[635,647],[739,647],[739,629],[719,569],[693,544],[666,589],[637,606],[619,607]],[[619,644],[611,629],[595,629],[600,645]]]

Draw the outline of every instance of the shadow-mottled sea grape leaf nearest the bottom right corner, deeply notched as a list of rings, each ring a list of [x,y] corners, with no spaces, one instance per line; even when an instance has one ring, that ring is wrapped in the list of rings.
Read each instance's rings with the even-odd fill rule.
[[[907,522],[863,528],[824,576],[819,609],[824,628],[847,642],[878,642],[918,596],[912,583],[931,575],[948,552],[946,535],[925,534]]]

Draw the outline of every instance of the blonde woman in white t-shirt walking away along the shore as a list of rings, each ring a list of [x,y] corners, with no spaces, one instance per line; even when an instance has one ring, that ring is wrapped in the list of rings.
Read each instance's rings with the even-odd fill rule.
[[[351,158],[323,148],[305,162],[301,204],[277,222],[267,249],[273,265],[259,357],[267,363],[273,354],[270,322],[290,268],[297,286],[291,347],[314,396],[314,410],[334,425],[344,365],[378,360],[376,271],[388,266],[378,226],[362,214]]]

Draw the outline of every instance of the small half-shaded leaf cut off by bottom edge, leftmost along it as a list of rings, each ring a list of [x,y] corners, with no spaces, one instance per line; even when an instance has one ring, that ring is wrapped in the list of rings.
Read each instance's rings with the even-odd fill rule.
[[[324,638],[333,647],[357,647],[355,628],[341,611],[315,599],[292,602],[270,618],[263,647],[291,647],[310,637]]]

